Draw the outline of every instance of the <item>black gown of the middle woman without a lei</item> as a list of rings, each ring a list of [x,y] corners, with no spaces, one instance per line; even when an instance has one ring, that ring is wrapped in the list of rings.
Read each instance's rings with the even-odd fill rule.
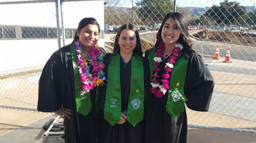
[[[108,73],[108,64],[111,59],[111,54],[106,54],[105,56],[105,72],[108,80],[108,76],[111,73]],[[148,94],[150,88],[149,81],[149,67],[148,67],[148,59],[143,57],[143,66],[144,66],[144,88],[145,88],[145,97],[144,97],[144,117],[145,117],[145,109],[148,101]],[[121,109],[122,112],[124,110],[127,111],[128,106],[128,96],[130,92],[130,84],[131,84],[131,60],[125,65],[122,57],[120,56],[120,82],[121,82]],[[144,129],[145,123],[144,120],[140,121],[135,127],[132,126],[128,121],[124,124],[119,125],[116,123],[113,127],[108,121],[104,119],[104,106],[105,106],[105,95],[106,95],[106,85],[99,87],[99,115],[101,128],[99,131],[99,140],[98,143],[144,143]]]

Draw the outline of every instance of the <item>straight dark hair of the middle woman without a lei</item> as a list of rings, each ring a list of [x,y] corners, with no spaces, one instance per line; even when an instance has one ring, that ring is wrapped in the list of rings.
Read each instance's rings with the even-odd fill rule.
[[[124,29],[129,29],[129,30],[134,31],[134,33],[136,34],[136,46],[133,50],[133,54],[138,54],[138,55],[142,56],[142,48],[140,45],[140,35],[139,35],[139,32],[137,31],[137,28],[132,24],[124,24],[119,28],[119,30],[116,33],[116,39],[115,39],[115,44],[114,44],[114,49],[113,49],[112,54],[113,55],[120,54],[120,46],[118,44],[118,39],[121,35],[122,30],[124,30]]]

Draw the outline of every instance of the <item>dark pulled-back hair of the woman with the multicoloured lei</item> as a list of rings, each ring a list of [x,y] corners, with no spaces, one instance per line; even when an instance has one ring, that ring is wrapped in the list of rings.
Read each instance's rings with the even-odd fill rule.
[[[75,37],[73,39],[73,41],[71,42],[71,44],[74,44],[76,41],[79,40],[79,36],[77,36],[77,32],[80,32],[82,28],[84,28],[86,25],[88,24],[92,24],[92,25],[97,25],[98,26],[98,29],[100,31],[100,28],[99,28],[99,23],[97,22],[97,20],[95,18],[92,18],[92,17],[86,17],[86,18],[83,18],[79,24],[78,24],[78,28],[76,29],[76,34],[75,34]]]

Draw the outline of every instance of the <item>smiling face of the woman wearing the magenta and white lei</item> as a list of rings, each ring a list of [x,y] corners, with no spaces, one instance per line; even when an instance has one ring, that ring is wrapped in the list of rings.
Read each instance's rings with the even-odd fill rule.
[[[177,29],[176,22],[172,17],[168,18],[163,25],[161,37],[167,45],[176,44],[180,38],[180,31]]]

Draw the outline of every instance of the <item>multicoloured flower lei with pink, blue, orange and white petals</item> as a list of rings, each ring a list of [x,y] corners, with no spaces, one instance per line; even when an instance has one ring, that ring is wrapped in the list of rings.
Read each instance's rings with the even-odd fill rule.
[[[83,83],[80,95],[89,93],[91,89],[99,84],[104,84],[105,73],[103,72],[105,65],[103,64],[102,51],[99,46],[95,45],[91,48],[89,56],[84,55],[83,46],[79,41],[75,42],[77,63],[80,73],[80,79]],[[91,67],[93,67],[91,70]]]

